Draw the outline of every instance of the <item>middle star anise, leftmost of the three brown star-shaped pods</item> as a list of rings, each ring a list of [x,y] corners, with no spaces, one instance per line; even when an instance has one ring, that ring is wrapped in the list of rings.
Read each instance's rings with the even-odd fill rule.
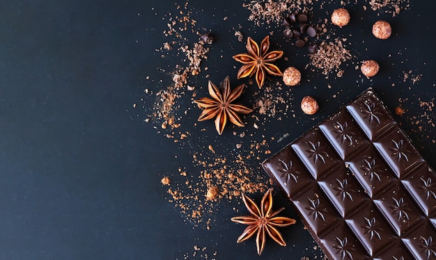
[[[209,95],[212,97],[202,97],[201,99],[194,100],[200,107],[204,108],[198,121],[209,120],[215,117],[215,128],[221,134],[226,127],[227,120],[239,127],[244,127],[244,123],[238,114],[248,114],[253,109],[247,108],[240,104],[232,104],[235,99],[238,99],[244,90],[244,84],[231,90],[228,76],[221,83],[220,88],[217,88],[212,81],[208,83]]]

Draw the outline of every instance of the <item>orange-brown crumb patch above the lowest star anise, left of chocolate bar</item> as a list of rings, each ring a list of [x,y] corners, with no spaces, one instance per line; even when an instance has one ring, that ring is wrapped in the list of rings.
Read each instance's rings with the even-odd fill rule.
[[[251,141],[253,142],[253,141]],[[185,181],[171,181],[167,189],[169,202],[173,202],[182,216],[195,226],[210,229],[220,202],[238,200],[242,193],[264,193],[270,187],[266,174],[258,174],[260,161],[269,154],[267,140],[242,144],[244,149],[231,154],[212,152],[208,147],[196,148],[192,154],[195,172],[179,168]],[[180,178],[178,178],[180,179]]]

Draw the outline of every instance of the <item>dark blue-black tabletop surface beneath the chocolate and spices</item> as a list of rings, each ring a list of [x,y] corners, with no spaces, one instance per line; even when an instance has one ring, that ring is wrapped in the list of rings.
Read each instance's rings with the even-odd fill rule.
[[[430,101],[436,96],[436,2],[412,1],[397,17],[364,11],[364,5],[347,5],[352,22],[342,30],[329,26],[336,36],[352,42],[357,63],[366,58],[379,61],[379,74],[365,79],[352,63],[343,64],[341,79],[302,70],[311,81],[293,90],[290,106],[295,106],[295,117],[268,118],[259,129],[251,127],[253,117],[245,117],[247,133],[253,134],[247,135],[247,143],[288,133],[283,141],[270,143],[269,149],[277,152],[373,86],[391,111],[399,98],[407,99],[402,102],[405,115],[396,120],[436,168],[435,127],[411,120],[424,111],[419,98]],[[339,6],[315,8],[313,16],[329,17]],[[226,75],[232,86],[248,82],[235,79],[239,64],[231,58],[244,52],[244,43],[233,35],[238,26],[257,42],[274,31],[272,49],[280,44],[289,57],[277,63],[282,70],[289,65],[304,68],[308,62],[305,51],[285,42],[280,26],[249,22],[241,2],[223,0],[215,6],[189,1],[187,9],[197,31],[219,37],[205,62],[215,83]],[[235,243],[244,227],[229,220],[236,214],[233,207],[247,213],[239,200],[217,202],[210,230],[196,227],[168,201],[160,179],[171,176],[177,183],[178,168],[192,170],[190,149],[212,142],[225,152],[235,146],[232,131],[241,131],[229,126],[218,136],[211,121],[194,127],[199,111],[190,97],[180,99],[182,106],[192,108],[182,118],[194,136],[189,145],[166,138],[157,130],[158,121],[143,122],[153,113],[155,101],[144,90],[155,93],[169,86],[171,72],[182,62],[182,56],[162,58],[162,51],[155,51],[172,40],[162,32],[169,13],[176,12],[171,1],[0,2],[0,259],[205,259],[205,254],[208,259],[320,259],[322,253],[313,250],[316,244],[301,222],[281,229],[287,247],[268,240],[262,257],[257,257],[254,238]],[[393,26],[389,40],[371,35],[373,22],[380,18]],[[198,41],[198,35],[187,35],[187,44]],[[409,70],[422,74],[418,83],[403,82],[403,71]],[[207,81],[205,74],[189,78],[192,85],[206,86]],[[205,88],[196,91],[206,95]],[[250,91],[255,90],[247,90],[244,104],[250,102]],[[304,95],[318,99],[320,112],[315,116],[299,111]],[[267,157],[250,163],[260,169],[258,163]],[[251,197],[259,201],[261,194]],[[281,194],[274,193],[274,204],[286,206],[283,215],[297,218]],[[194,246],[206,248],[197,252]]]

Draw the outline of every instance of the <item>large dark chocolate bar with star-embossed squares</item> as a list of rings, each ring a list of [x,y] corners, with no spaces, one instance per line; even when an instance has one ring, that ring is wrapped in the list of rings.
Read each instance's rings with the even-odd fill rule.
[[[262,165],[329,259],[435,259],[436,172],[373,90]]]

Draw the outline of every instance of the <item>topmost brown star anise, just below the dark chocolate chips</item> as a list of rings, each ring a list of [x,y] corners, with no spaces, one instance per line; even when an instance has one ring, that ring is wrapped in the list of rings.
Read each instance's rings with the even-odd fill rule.
[[[262,88],[265,83],[265,72],[276,76],[282,76],[283,73],[281,73],[279,67],[272,64],[272,62],[281,58],[281,56],[283,56],[283,51],[267,52],[268,49],[270,49],[270,36],[265,37],[262,42],[260,42],[260,48],[254,40],[248,38],[248,54],[238,54],[233,56],[235,60],[244,63],[238,71],[238,79],[246,76],[251,77],[256,73],[256,82],[258,83],[259,88]]]

